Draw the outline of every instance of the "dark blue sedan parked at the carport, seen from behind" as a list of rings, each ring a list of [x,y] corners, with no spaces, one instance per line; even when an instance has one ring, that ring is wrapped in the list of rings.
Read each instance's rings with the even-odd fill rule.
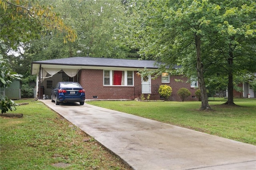
[[[56,105],[60,105],[60,102],[79,102],[80,105],[84,105],[85,91],[77,82],[58,82],[52,90],[51,97]]]

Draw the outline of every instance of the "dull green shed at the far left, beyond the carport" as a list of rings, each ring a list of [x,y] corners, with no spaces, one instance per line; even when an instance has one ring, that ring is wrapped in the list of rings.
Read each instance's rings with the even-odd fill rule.
[[[13,80],[9,87],[0,89],[0,94],[12,100],[21,99],[20,87],[20,80]]]

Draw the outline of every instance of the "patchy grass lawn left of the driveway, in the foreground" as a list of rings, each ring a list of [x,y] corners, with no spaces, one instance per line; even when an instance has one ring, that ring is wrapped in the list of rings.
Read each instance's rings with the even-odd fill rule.
[[[94,138],[40,101],[21,100],[23,118],[0,117],[1,170],[130,170]],[[56,167],[62,163],[66,167]]]

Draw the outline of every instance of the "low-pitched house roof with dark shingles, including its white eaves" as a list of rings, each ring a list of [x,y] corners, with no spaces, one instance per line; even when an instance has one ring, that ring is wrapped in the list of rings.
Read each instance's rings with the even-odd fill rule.
[[[135,60],[135,59],[114,59],[114,58],[97,58],[97,57],[70,57],[61,59],[50,59],[43,61],[33,61],[31,63],[31,73],[36,75],[39,68],[62,68],[62,69],[158,69],[156,61],[152,60]]]

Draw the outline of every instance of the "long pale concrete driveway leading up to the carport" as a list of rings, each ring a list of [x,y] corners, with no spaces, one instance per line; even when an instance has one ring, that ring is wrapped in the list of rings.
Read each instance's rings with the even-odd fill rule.
[[[88,104],[40,100],[135,170],[256,170],[256,146]]]

